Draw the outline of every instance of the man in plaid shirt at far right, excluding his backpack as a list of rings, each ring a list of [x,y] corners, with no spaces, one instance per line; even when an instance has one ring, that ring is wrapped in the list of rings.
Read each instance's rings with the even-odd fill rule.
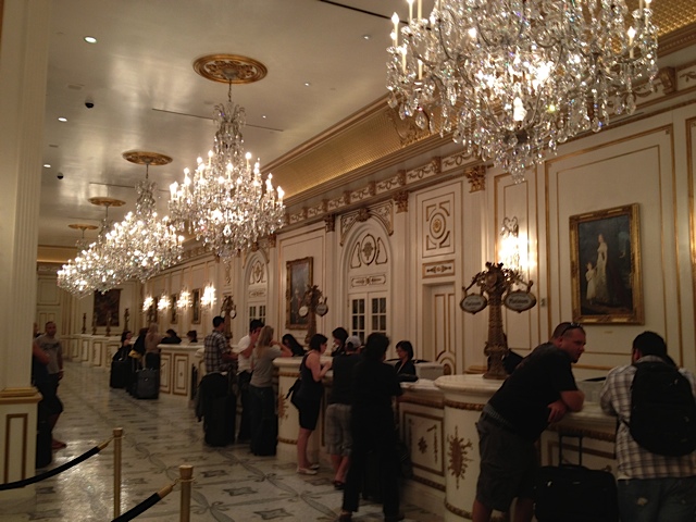
[[[696,518],[696,452],[683,457],[657,455],[644,449],[631,436],[631,385],[635,363],[673,361],[664,339],[644,332],[633,340],[633,364],[614,368],[601,388],[601,409],[619,418],[617,460],[619,462],[619,510],[626,522],[693,522]],[[686,370],[696,395],[696,377]]]

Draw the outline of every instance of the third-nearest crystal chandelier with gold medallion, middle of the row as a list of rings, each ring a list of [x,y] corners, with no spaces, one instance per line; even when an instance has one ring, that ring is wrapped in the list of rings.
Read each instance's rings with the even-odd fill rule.
[[[145,282],[176,263],[182,256],[183,237],[164,216],[156,211],[153,191],[156,184],[149,181],[150,165],[165,165],[170,157],[156,152],[128,151],[123,157],[137,164],[145,164],[145,179],[136,186],[138,199],[135,213],[128,212],[109,233],[108,248],[115,260],[121,281],[138,278]]]

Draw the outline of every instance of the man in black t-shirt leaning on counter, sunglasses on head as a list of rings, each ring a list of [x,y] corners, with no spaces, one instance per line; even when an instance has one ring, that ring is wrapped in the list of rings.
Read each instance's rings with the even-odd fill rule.
[[[509,511],[514,498],[510,520],[532,520],[535,443],[549,423],[582,409],[585,395],[577,389],[571,364],[583,351],[583,327],[559,324],[551,340],[525,357],[484,407],[476,423],[481,471],[473,522],[489,521],[494,509]]]

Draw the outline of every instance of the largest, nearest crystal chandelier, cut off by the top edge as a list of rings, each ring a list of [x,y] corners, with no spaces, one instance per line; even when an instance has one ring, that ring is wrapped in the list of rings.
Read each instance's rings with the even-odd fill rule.
[[[427,18],[408,2],[408,25],[391,17],[389,105],[515,182],[558,144],[633,113],[636,83],[657,74],[650,0],[633,12],[625,0],[435,0]]]

